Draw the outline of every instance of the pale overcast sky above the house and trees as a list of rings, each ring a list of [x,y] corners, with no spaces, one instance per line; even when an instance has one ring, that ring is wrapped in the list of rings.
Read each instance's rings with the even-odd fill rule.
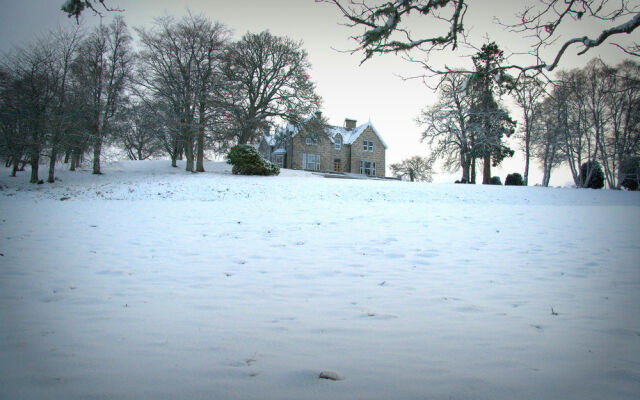
[[[15,46],[24,46],[58,25],[75,23],[60,11],[63,0],[0,0],[0,3],[2,52],[10,51]],[[314,0],[112,0],[109,3],[124,10],[122,14],[130,27],[150,26],[155,17],[165,14],[180,17],[190,10],[224,23],[233,30],[236,38],[247,31],[269,29],[274,34],[302,40],[313,66],[312,78],[323,98],[323,114],[330,123],[342,125],[345,118],[356,119],[358,124],[371,120],[389,146],[387,167],[404,158],[428,153],[426,144],[419,140],[421,129],[416,125],[415,118],[421,109],[435,101],[436,95],[418,80],[405,81],[399,77],[417,75],[419,68],[393,55],[376,57],[360,65],[360,54],[337,51],[352,48],[353,42],[348,38],[355,32],[340,25],[344,21],[332,5],[318,4]],[[500,13],[499,17],[512,19],[514,12],[524,3],[509,0],[473,1],[473,12],[468,15],[466,29],[476,38],[478,46],[485,41],[485,37],[489,37],[507,54],[522,51],[518,47],[523,43],[522,39],[505,33],[493,17]],[[109,13],[105,14],[105,20],[110,17]],[[99,21],[99,17],[90,12],[84,13],[82,19],[87,25]],[[595,26],[583,25],[580,28],[581,31],[569,29],[567,33],[580,36],[596,36],[598,33]],[[612,47],[607,46],[582,58],[572,55],[576,51],[570,52],[561,67],[570,69],[582,66],[600,54],[607,62],[615,64],[623,57]],[[449,54],[442,54],[441,57],[437,61],[446,62],[449,66],[462,66],[469,62],[468,57]],[[519,119],[518,110],[513,110],[513,116]],[[512,147],[519,150],[517,144]],[[505,161],[501,168],[494,168],[492,174],[499,175],[504,181],[508,173],[523,173],[521,153],[518,151],[516,157]],[[436,181],[451,181],[459,175],[440,173]],[[541,177],[540,171],[534,167],[530,171],[530,184],[539,183]],[[560,171],[552,175],[551,183],[564,185],[569,180],[570,175]]]

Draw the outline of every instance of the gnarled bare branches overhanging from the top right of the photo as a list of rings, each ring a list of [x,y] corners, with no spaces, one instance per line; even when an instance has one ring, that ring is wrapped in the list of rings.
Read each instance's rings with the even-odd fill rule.
[[[316,1],[334,4],[348,21],[348,26],[362,29],[362,33],[353,37],[357,41],[353,52],[362,51],[363,61],[374,54],[408,54],[416,49],[425,56],[422,64],[430,74],[452,72],[446,66],[434,66],[433,60],[437,58],[431,57],[430,60],[429,56],[438,51],[455,52],[466,45],[472,46],[465,32],[465,17],[475,7],[487,7],[484,3],[476,4],[469,0]],[[422,17],[422,26],[431,27],[431,35],[416,36],[415,29],[411,27],[415,19],[410,18],[415,15]],[[569,20],[580,23],[585,34],[563,38],[559,27]],[[552,71],[570,47],[577,47],[578,54],[582,55],[635,31],[640,26],[640,11],[630,0],[539,0],[517,14],[515,22],[503,22],[502,25],[521,34],[523,39],[533,37],[534,40],[523,40],[530,45],[517,51],[530,56],[528,63],[504,64],[499,69]],[[590,37],[594,26],[599,33]],[[621,43],[613,42],[628,54],[637,54],[637,43]]]

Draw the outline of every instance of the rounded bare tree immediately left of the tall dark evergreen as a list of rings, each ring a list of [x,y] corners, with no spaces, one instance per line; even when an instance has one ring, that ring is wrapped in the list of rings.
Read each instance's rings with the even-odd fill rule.
[[[462,168],[462,178],[471,182],[473,137],[469,129],[471,98],[467,93],[469,74],[448,75],[439,88],[438,101],[422,111],[418,123],[425,127],[426,141],[433,159],[442,159],[448,171]]]

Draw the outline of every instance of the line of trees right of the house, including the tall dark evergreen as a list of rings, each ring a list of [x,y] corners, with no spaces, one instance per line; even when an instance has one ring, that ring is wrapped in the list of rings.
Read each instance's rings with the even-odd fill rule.
[[[513,155],[504,138],[515,137],[530,161],[543,170],[542,185],[560,165],[571,170],[577,187],[593,187],[600,174],[610,188],[637,187],[640,162],[640,64],[617,66],[600,59],[584,68],[559,71],[552,80],[500,69],[502,51],[489,43],[473,57],[473,72],[450,71],[438,101],[419,117],[422,139],[448,170],[462,170],[463,182],[491,183],[491,167]],[[516,129],[501,99],[510,96],[522,123]]]

